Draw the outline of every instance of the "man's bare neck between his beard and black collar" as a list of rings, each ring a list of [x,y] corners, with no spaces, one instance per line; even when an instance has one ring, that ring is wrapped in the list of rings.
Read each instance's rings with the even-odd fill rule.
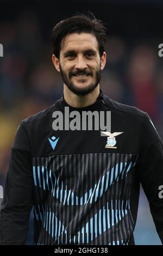
[[[72,107],[87,107],[96,102],[99,96],[99,84],[98,86],[89,94],[77,95],[71,92],[70,89],[64,84],[64,99],[68,105]]]

